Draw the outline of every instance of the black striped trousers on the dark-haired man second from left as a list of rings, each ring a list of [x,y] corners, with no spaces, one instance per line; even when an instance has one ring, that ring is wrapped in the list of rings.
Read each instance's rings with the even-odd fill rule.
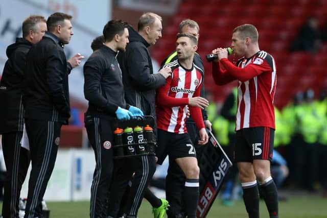
[[[38,206],[55,166],[62,124],[25,118],[25,125],[30,142],[32,171],[24,217],[43,217]]]

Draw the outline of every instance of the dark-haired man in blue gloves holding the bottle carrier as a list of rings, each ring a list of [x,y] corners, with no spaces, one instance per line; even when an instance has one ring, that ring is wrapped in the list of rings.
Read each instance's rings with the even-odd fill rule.
[[[122,72],[116,55],[129,42],[128,25],[110,20],[103,29],[104,45],[84,64],[84,95],[89,101],[85,127],[95,152],[96,168],[91,185],[90,217],[106,217],[106,201],[113,169],[113,133],[115,118],[129,120],[143,116],[136,107],[126,104]]]

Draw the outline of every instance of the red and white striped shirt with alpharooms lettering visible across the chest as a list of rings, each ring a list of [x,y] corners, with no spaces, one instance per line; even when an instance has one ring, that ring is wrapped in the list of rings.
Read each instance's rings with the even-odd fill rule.
[[[157,128],[173,133],[186,133],[186,113],[189,98],[200,96],[202,70],[193,64],[192,69],[183,68],[178,61],[165,66],[172,69],[166,85],[157,89]],[[199,129],[204,128],[201,109],[189,106],[190,113]]]

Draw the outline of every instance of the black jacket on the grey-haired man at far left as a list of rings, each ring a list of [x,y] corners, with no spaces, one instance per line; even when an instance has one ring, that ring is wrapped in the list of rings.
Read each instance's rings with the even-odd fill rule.
[[[16,42],[7,47],[8,60],[0,82],[0,134],[23,131],[24,67],[32,46],[25,38],[16,38]]]

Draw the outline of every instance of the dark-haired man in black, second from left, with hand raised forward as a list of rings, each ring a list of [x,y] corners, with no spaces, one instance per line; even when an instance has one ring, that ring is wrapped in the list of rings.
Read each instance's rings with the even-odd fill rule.
[[[24,105],[32,172],[25,218],[41,216],[36,206],[54,168],[61,126],[70,116],[68,74],[83,58],[77,54],[74,63],[66,61],[63,47],[74,34],[71,19],[64,13],[52,14],[46,21],[49,32],[27,54]]]

